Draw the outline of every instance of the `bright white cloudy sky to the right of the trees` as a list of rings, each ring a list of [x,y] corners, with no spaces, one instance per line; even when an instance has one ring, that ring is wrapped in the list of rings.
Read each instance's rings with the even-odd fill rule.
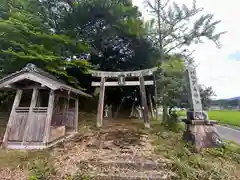
[[[175,2],[192,4],[192,0]],[[144,19],[150,18],[142,0],[133,0],[133,4],[139,7]],[[217,31],[227,31],[220,39],[220,49],[211,41],[191,47],[195,49],[199,83],[212,86],[217,99],[240,96],[240,1],[197,0],[197,7],[203,7],[203,13],[214,14],[216,20],[222,21]]]

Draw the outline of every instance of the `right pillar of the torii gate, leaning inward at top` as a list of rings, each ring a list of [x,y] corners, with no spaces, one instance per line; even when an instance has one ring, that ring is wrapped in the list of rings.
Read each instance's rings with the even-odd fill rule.
[[[144,126],[146,128],[150,128],[150,122],[148,118],[148,105],[147,105],[147,98],[146,98],[146,90],[144,86],[144,78],[143,76],[139,76],[140,81],[140,93],[141,93],[141,101],[143,106],[143,119],[144,119]]]

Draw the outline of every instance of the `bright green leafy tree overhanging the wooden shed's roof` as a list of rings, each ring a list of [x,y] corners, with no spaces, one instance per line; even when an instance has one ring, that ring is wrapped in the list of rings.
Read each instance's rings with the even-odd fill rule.
[[[86,60],[73,58],[87,52],[87,46],[64,34],[52,32],[38,16],[37,0],[1,3],[5,10],[0,20],[1,76],[17,71],[27,63],[34,63],[79,87],[78,81],[67,73],[67,69],[77,67],[83,72],[88,70]],[[29,10],[29,7],[35,9]]]

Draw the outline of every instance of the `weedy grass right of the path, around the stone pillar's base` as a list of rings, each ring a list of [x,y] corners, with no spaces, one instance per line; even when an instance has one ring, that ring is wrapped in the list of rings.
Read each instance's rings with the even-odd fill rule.
[[[226,142],[224,148],[206,149],[196,154],[192,145],[182,140],[182,130],[167,127],[155,123],[151,134],[156,153],[172,161],[170,168],[178,174],[179,179],[239,179],[239,145]]]

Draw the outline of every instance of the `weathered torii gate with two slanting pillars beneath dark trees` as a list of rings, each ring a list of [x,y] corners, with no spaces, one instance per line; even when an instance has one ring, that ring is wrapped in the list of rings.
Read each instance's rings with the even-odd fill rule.
[[[101,127],[103,124],[103,108],[104,108],[104,95],[106,86],[139,86],[141,94],[141,102],[143,107],[144,125],[146,128],[150,127],[150,121],[148,118],[148,106],[146,98],[145,86],[155,85],[154,80],[145,81],[145,76],[154,76],[156,68],[144,69],[138,71],[124,71],[124,72],[109,72],[109,71],[96,71],[90,70],[93,77],[101,78],[100,82],[92,82],[92,86],[100,87],[100,95],[98,101],[98,113],[97,113],[97,127]],[[129,78],[138,78],[138,81],[126,81]],[[115,81],[107,81],[114,79]]]

